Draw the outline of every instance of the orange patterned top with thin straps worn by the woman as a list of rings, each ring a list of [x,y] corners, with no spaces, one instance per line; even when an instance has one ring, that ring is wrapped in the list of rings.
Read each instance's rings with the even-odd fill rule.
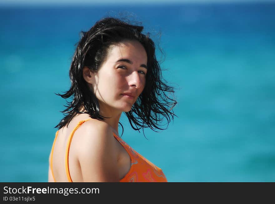
[[[69,171],[69,149],[71,145],[71,141],[73,138],[74,132],[78,129],[79,126],[81,126],[84,122],[91,120],[92,118],[89,118],[87,120],[80,121],[78,125],[73,129],[66,148],[66,174],[69,182],[73,182],[72,178],[70,176]],[[55,134],[55,139],[53,142],[52,147],[52,156],[51,156],[51,170],[53,174],[53,148],[58,135],[58,131]],[[126,149],[128,152],[130,158],[131,158],[131,168],[129,172],[120,179],[120,182],[167,182],[167,179],[165,175],[163,174],[162,170],[158,168],[156,165],[145,159],[142,155],[138,154],[132,147],[130,147],[126,142],[124,142],[118,135],[114,134],[114,137],[118,140],[118,142]],[[54,182],[54,176],[53,176]]]

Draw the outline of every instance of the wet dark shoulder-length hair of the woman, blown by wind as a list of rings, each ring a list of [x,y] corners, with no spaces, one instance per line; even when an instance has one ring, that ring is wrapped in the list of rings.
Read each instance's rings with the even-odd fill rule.
[[[68,126],[78,113],[88,113],[91,118],[104,120],[99,114],[99,103],[95,94],[83,78],[83,67],[87,66],[92,72],[97,72],[108,54],[111,45],[123,40],[139,41],[147,53],[146,84],[143,92],[129,112],[125,112],[134,130],[146,127],[152,130],[164,130],[161,122],[166,118],[168,124],[174,118],[172,108],[176,105],[174,90],[162,79],[161,69],[155,56],[155,44],[149,34],[142,34],[143,26],[136,26],[116,18],[104,18],[95,23],[87,32],[82,31],[70,67],[71,88],[64,94],[57,94],[67,101],[67,107],[61,111],[65,117],[55,128]],[[84,107],[84,111],[80,111]],[[167,125],[168,125],[167,124]]]

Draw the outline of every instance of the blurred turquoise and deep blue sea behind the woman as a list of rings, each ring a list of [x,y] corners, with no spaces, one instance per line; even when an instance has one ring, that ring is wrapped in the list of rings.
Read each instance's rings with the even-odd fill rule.
[[[275,181],[275,3],[0,7],[0,182],[46,182],[79,40],[102,17],[139,21],[176,88],[167,130],[123,140],[169,182]],[[160,37],[161,33],[161,37]],[[121,129],[120,129],[121,130]]]

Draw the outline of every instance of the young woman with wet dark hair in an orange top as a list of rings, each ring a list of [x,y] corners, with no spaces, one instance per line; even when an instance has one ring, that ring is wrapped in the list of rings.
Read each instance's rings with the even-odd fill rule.
[[[49,182],[167,182],[162,170],[118,134],[125,112],[134,130],[173,119],[173,88],[163,83],[155,46],[142,26],[96,22],[78,43],[70,67],[72,97],[56,126]],[[172,94],[173,95],[173,94]]]

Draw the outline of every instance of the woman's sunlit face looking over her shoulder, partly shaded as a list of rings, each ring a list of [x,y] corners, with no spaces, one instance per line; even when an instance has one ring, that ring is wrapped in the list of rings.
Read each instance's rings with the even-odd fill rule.
[[[108,115],[130,111],[144,89],[146,72],[147,54],[143,45],[136,40],[113,45],[98,72],[90,72],[101,112]]]

